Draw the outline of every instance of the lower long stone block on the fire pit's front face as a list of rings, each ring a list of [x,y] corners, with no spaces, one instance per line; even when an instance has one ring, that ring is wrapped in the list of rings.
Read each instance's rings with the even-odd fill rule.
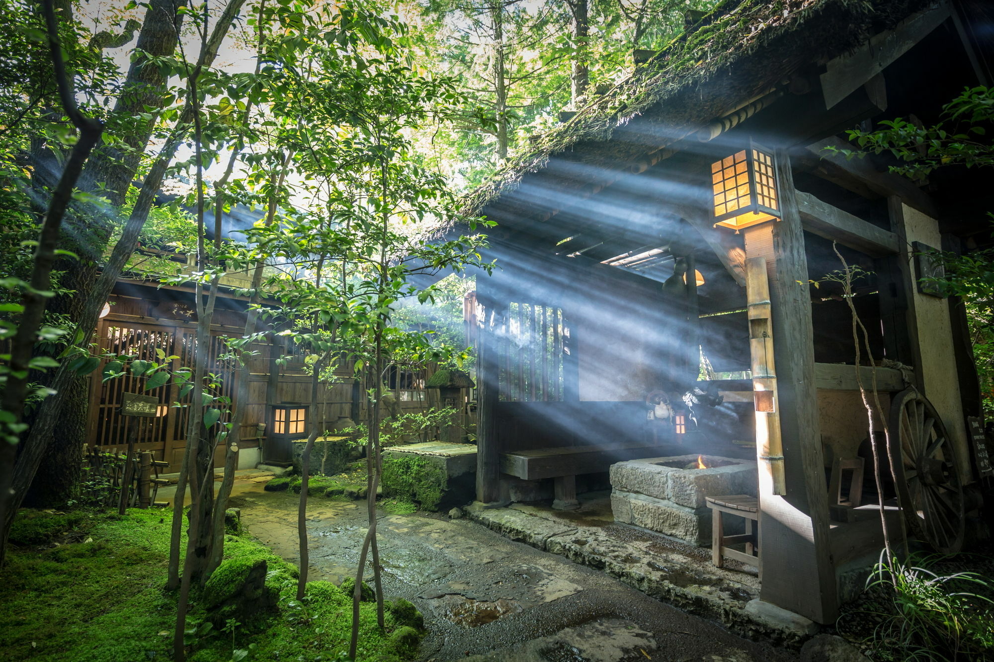
[[[688,508],[665,499],[615,490],[611,492],[611,509],[614,517],[625,524],[658,531],[691,545],[711,545],[709,508]]]

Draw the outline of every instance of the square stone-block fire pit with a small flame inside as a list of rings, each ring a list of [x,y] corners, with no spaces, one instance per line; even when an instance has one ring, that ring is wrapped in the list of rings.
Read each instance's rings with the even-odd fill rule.
[[[694,454],[612,464],[614,519],[710,547],[711,509],[705,497],[756,494],[756,463],[705,455],[709,468],[688,468],[696,467],[697,460]]]

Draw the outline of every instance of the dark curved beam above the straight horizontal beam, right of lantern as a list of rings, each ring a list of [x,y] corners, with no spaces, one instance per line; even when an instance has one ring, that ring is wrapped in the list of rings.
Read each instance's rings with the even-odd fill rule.
[[[864,198],[900,196],[909,207],[933,219],[939,218],[932,199],[911,181],[894,173],[877,170],[869,158],[847,159],[843,154],[826,150],[826,147],[860,151],[859,147],[841,138],[827,138],[800,150],[796,154],[799,165],[804,170]]]

